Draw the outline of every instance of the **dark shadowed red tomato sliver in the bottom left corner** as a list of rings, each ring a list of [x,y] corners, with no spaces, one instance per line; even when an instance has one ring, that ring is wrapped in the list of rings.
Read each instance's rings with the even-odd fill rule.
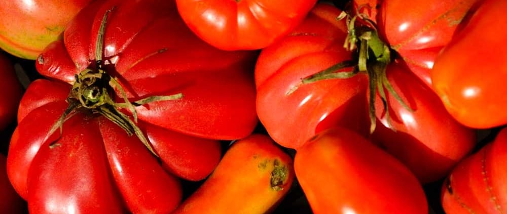
[[[9,182],[6,165],[7,158],[0,153],[0,213],[21,213],[26,204]]]

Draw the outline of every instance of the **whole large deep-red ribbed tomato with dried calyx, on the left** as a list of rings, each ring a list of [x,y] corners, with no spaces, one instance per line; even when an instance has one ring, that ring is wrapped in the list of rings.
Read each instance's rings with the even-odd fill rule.
[[[21,100],[10,181],[33,213],[170,212],[178,178],[257,125],[255,54],[207,45],[172,1],[93,2],[35,62],[51,80]]]

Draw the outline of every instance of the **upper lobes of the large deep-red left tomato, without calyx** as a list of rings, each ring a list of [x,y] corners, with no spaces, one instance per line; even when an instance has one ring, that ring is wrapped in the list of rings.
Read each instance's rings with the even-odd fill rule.
[[[137,107],[139,119],[203,138],[235,140],[248,136],[258,123],[250,72],[255,53],[211,48],[193,36],[177,13],[167,12],[174,12],[174,3],[161,4],[157,0],[146,4],[107,1],[86,7],[69,23],[63,44],[55,41],[39,57],[37,69],[48,77],[72,81],[76,70],[84,70],[95,59],[97,33],[90,32],[98,32],[105,11],[117,5],[108,18],[103,54],[115,62],[127,96],[185,96]],[[152,24],[147,27],[146,23]],[[157,81],[153,81],[155,77]]]

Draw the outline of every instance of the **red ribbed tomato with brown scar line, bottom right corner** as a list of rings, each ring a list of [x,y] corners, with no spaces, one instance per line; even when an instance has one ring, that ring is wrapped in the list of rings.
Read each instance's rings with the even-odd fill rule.
[[[507,211],[507,129],[474,155],[461,161],[442,186],[442,205],[448,214]]]

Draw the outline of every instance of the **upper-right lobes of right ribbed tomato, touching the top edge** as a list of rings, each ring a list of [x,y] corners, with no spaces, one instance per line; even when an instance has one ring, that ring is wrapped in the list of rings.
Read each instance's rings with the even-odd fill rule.
[[[440,51],[480,0],[354,0],[377,23],[379,33],[410,70],[432,88],[430,70]],[[400,13],[403,11],[403,13]]]

